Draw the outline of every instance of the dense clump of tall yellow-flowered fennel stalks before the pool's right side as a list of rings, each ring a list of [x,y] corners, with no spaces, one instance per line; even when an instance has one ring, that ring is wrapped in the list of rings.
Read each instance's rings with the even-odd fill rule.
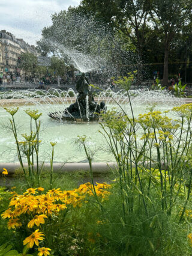
[[[191,187],[192,175],[188,185],[183,180],[184,168],[187,165],[185,161],[191,159],[191,104],[173,108],[172,111],[180,115],[182,120],[172,120],[160,111],[140,114],[139,118],[134,118],[134,115],[130,118],[125,112],[121,114],[114,111],[107,111],[103,115],[101,133],[118,163],[125,224],[129,212],[133,211],[135,200],[137,201],[131,193],[138,192],[148,216],[149,204],[155,207],[157,200],[154,194],[151,197],[151,189],[153,190],[156,185],[159,186],[157,195],[160,195],[161,210],[167,212],[167,215],[172,214],[172,207],[178,201],[178,197],[183,197],[185,203],[180,218],[180,221],[182,220],[191,195],[188,187]],[[184,123],[187,124],[186,128]],[[137,135],[139,128],[143,134],[140,138]],[[147,183],[143,174],[147,177]]]

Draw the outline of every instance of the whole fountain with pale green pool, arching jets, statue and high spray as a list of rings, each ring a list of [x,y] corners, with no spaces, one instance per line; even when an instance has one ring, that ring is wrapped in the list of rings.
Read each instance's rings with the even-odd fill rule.
[[[91,17],[71,16],[68,25],[55,23],[50,33],[45,33],[46,38],[41,40],[43,46],[50,49],[59,58],[67,60],[67,64],[73,66],[80,72],[93,72],[99,76],[98,86],[101,79],[118,76],[121,65],[130,67],[131,63],[137,62],[136,56],[127,49],[121,47],[121,39],[106,32],[102,24],[95,23]],[[71,26],[71,24],[73,26]],[[71,32],[73,31],[73,32]],[[119,66],[119,55],[121,65]],[[133,55],[131,57],[131,55]],[[130,61],[132,59],[132,61]],[[127,70],[128,71],[128,70]],[[119,90],[117,93],[107,89],[93,97],[89,79],[85,73],[77,81],[76,91],[72,89],[62,91],[50,88],[49,90],[25,90],[0,92],[0,163],[17,162],[16,145],[14,136],[7,127],[9,115],[3,109],[4,106],[20,106],[15,115],[19,129],[18,139],[23,139],[20,134],[29,132],[29,117],[23,115],[26,109],[37,109],[42,112],[40,131],[41,144],[40,160],[49,162],[50,143],[56,141],[55,162],[87,162],[85,153],[77,150],[74,141],[77,135],[91,137],[89,147],[95,151],[94,162],[114,161],[112,153],[109,152],[106,142],[98,130],[98,120],[102,111],[120,106],[130,115],[131,109],[127,92]],[[137,117],[142,112],[148,112],[148,104],[158,103],[160,111],[171,109],[172,106],[183,103],[167,91],[130,90],[130,99],[133,105],[134,115]],[[30,106],[29,106],[30,105]],[[50,118],[49,118],[50,117]],[[58,121],[55,121],[58,120]],[[94,122],[95,121],[95,122]],[[3,136],[2,136],[3,135]],[[97,150],[99,148],[99,150]]]

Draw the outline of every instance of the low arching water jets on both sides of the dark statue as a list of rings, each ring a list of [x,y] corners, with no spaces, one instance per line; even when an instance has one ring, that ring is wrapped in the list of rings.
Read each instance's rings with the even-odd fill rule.
[[[175,106],[184,103],[184,99],[175,98],[171,93],[166,90],[163,91],[150,91],[150,90],[130,90],[129,91],[131,103],[134,105],[167,105]],[[58,106],[60,109],[64,110],[71,103],[76,102],[78,94],[73,90],[69,89],[67,91],[62,91],[60,89],[50,88],[46,90],[23,90],[23,91],[10,91],[0,94],[0,99],[10,99],[13,105],[22,103],[22,105],[42,105],[42,109],[47,113],[47,105],[49,106],[49,112],[58,111]],[[22,99],[14,100],[14,99]],[[115,101],[113,100],[115,99]],[[124,90],[119,90],[118,92],[107,89],[106,91],[98,92],[95,97],[95,102],[97,105],[100,102],[105,102],[107,106],[115,106],[117,102],[119,105],[123,106],[125,112],[128,113],[130,110],[129,100],[127,92]],[[4,105],[5,101],[0,100],[0,106]],[[44,108],[46,106],[46,108]],[[118,106],[116,105],[116,108]],[[142,109],[141,109],[142,111]]]

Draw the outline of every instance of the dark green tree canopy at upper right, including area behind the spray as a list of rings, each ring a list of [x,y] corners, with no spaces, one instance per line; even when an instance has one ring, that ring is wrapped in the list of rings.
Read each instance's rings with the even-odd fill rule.
[[[191,11],[191,0],[82,0],[52,15],[38,48],[77,69],[84,65],[113,75],[139,69],[145,78],[157,70],[164,85],[176,73],[189,80]]]

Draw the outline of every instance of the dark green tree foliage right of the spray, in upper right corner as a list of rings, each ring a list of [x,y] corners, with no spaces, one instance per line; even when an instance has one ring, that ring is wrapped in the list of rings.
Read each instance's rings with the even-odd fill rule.
[[[130,41],[133,50],[139,52],[142,61],[148,63],[151,74],[154,70],[161,70],[163,73],[166,55],[166,77],[163,85],[167,85],[168,82],[168,59],[174,63],[169,65],[170,73],[175,72],[175,69],[182,70],[182,76],[185,74],[190,80],[190,0],[83,0],[81,6],[88,13],[94,14],[98,20],[103,20],[106,26],[118,31],[117,34],[125,47],[127,41]],[[154,64],[152,67],[151,63]],[[124,71],[126,68],[122,67]],[[137,69],[140,74],[143,71],[146,73],[145,67],[140,64]]]

